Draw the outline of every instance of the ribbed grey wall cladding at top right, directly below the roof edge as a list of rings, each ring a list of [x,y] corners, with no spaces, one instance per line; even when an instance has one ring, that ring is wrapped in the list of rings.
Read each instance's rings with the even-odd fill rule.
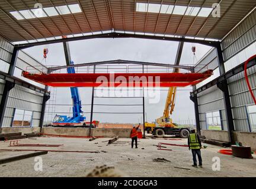
[[[228,60],[256,41],[256,10],[222,41],[224,60]]]

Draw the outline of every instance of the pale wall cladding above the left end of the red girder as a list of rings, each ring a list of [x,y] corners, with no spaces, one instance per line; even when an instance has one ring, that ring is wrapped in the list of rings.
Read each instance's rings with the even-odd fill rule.
[[[35,60],[24,51],[19,51],[16,67],[30,73],[38,73],[40,71],[47,72],[47,67],[43,66],[39,61]]]

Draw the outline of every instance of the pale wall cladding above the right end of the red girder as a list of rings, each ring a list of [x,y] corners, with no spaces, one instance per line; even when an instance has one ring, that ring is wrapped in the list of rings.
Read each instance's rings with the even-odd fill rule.
[[[206,56],[199,60],[199,63],[195,66],[195,72],[201,72],[206,70],[215,70],[218,67],[217,50],[212,48]]]

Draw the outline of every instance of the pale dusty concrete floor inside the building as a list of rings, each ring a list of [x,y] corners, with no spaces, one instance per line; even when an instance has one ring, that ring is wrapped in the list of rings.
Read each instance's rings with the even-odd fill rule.
[[[172,151],[161,151],[156,146],[158,142],[172,144],[187,144],[187,139],[169,141],[165,139],[140,139],[139,148],[132,149],[130,139],[120,138],[126,144],[111,144],[109,138],[99,138],[94,141],[82,138],[40,137],[36,139],[21,139],[21,144],[63,144],[57,148],[46,147],[9,147],[8,142],[0,142],[0,149],[63,149],[71,151],[106,151],[97,154],[48,152],[41,155],[43,171],[34,170],[34,158],[1,164],[1,177],[84,177],[88,170],[96,165],[114,165],[130,177],[255,177],[256,156],[254,159],[242,159],[217,153],[220,147],[208,145],[202,149],[203,168],[194,168],[192,155],[188,148],[168,146]],[[145,149],[142,149],[145,148]],[[0,158],[10,157],[28,152],[0,151]],[[212,170],[212,158],[220,158],[220,171]],[[171,162],[155,162],[154,158],[165,158]],[[183,167],[190,170],[183,170]]]

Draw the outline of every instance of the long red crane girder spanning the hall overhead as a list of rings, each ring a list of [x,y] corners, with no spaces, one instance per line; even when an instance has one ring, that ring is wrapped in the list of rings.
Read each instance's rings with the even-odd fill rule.
[[[185,87],[202,82],[213,71],[203,73],[50,73],[23,76],[52,87]]]

